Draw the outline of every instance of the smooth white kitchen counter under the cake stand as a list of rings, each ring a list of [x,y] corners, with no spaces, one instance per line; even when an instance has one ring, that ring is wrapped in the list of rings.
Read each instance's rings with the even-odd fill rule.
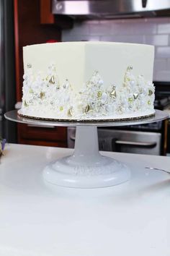
[[[102,153],[132,169],[125,184],[71,189],[42,180],[66,148],[7,145],[0,164],[1,256],[168,256],[170,158]]]

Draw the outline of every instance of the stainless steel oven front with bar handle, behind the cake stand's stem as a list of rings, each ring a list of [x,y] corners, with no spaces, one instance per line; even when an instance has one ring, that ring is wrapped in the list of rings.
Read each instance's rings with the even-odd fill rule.
[[[76,128],[68,128],[68,148],[74,148]],[[161,133],[98,128],[99,150],[161,155]]]

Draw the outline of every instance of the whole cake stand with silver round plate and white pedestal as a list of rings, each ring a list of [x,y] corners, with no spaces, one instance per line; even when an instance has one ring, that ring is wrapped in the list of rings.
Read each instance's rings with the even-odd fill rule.
[[[63,187],[96,188],[109,187],[130,179],[130,168],[124,163],[99,153],[97,127],[117,127],[147,124],[169,117],[164,111],[156,110],[155,116],[131,121],[45,121],[18,116],[9,111],[6,119],[24,124],[56,127],[76,127],[76,142],[71,156],[50,163],[42,171],[45,181]]]

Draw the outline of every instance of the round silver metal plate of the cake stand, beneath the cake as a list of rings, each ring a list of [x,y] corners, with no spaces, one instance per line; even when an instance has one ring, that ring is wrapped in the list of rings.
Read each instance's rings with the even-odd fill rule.
[[[135,124],[148,124],[155,121],[168,119],[169,115],[164,111],[156,110],[154,116],[143,119],[135,119],[129,121],[46,121],[39,119],[31,119],[17,114],[17,110],[9,111],[5,115],[10,121],[17,121],[23,124],[48,125],[55,127],[76,127],[76,126],[97,126],[97,127],[120,127]]]

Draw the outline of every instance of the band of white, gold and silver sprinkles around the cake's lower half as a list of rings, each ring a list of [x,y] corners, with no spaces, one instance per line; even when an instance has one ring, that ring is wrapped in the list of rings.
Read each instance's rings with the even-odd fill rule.
[[[53,64],[53,69],[50,68],[53,72],[50,80],[40,76],[34,78],[33,71],[30,70],[24,74],[22,109],[26,114],[29,114],[31,108],[35,111],[50,111],[51,114],[62,117],[81,118],[133,113],[153,108],[154,86],[152,82],[146,82],[142,75],[136,78],[132,73],[132,66],[126,69],[120,88],[111,85],[109,90],[105,89],[102,77],[95,71],[78,93],[73,92],[68,79],[62,87],[59,86],[56,70]],[[56,87],[49,87],[49,83]]]

